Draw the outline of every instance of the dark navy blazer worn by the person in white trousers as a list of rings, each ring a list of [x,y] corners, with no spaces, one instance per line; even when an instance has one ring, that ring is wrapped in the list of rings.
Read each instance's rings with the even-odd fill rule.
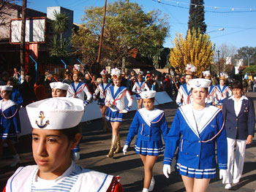
[[[248,135],[253,136],[255,132],[255,107],[253,101],[244,96],[241,110],[236,116],[232,97],[225,99],[222,107],[227,137],[231,139],[247,139]]]

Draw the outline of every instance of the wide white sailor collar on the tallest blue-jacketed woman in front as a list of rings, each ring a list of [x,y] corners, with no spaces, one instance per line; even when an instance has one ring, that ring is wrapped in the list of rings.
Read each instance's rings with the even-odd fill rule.
[[[203,132],[206,126],[208,126],[208,124],[211,123],[211,120],[215,118],[215,116],[219,113],[220,109],[212,105],[207,105],[202,120],[200,121],[200,124],[197,125],[195,123],[195,117],[193,115],[192,107],[192,104],[187,104],[178,109],[180,110],[181,115],[184,117],[184,120],[186,120],[189,128],[191,128],[194,134],[198,138],[200,138],[200,134]]]

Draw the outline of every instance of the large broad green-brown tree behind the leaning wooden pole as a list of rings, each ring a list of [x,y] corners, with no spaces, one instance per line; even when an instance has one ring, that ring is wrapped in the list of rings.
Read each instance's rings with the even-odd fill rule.
[[[155,47],[162,46],[169,27],[166,17],[159,15],[158,10],[143,12],[137,3],[115,1],[108,4],[100,64],[108,62],[112,66],[121,66],[122,58],[129,57],[133,48],[139,50],[140,55],[153,58],[158,53]],[[72,34],[72,44],[80,54],[83,50],[90,51],[87,55],[90,58],[84,55],[84,61],[91,62],[97,54],[102,17],[103,7],[89,7],[82,18],[83,28]]]

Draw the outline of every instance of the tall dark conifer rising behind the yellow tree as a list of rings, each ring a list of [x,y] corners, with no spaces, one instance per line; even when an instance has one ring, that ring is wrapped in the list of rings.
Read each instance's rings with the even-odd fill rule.
[[[200,34],[206,33],[205,11],[203,0],[190,0],[189,7],[189,30],[200,28]]]

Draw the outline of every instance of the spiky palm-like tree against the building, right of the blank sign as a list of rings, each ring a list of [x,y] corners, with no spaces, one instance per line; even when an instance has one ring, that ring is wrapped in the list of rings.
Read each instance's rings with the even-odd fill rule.
[[[60,35],[60,45],[62,46],[62,34],[69,28],[69,15],[66,12],[53,12],[55,20],[53,20],[52,28]],[[62,48],[62,47],[61,47]]]

